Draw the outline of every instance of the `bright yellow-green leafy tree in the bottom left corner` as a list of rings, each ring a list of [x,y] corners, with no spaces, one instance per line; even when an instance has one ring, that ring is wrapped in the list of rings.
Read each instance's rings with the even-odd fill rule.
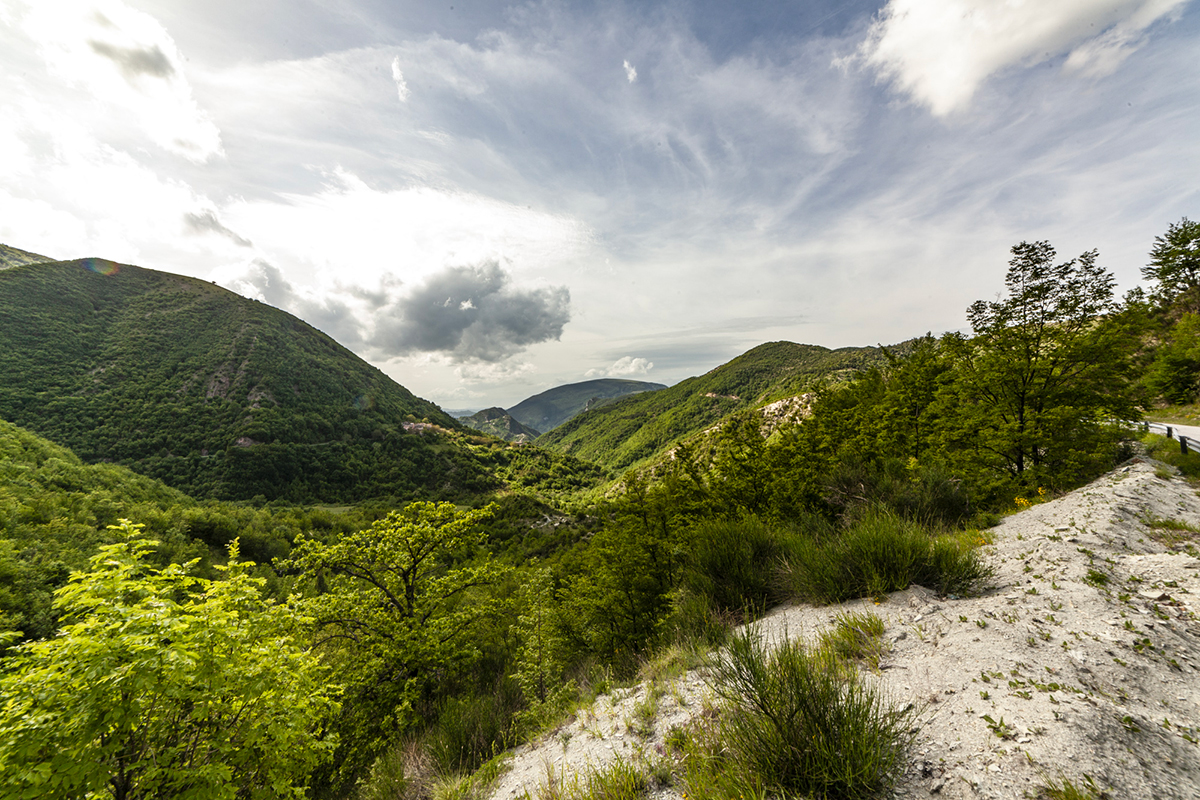
[[[295,620],[236,545],[205,581],[146,566],[139,528],[58,590],[58,636],[5,661],[0,796],[302,798],[337,703]]]

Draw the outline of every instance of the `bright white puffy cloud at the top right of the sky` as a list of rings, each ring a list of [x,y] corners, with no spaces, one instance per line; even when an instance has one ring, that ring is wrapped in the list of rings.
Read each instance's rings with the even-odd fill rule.
[[[857,58],[936,116],[965,108],[1007,67],[1067,55],[1085,76],[1114,71],[1151,24],[1187,0],[889,0]]]

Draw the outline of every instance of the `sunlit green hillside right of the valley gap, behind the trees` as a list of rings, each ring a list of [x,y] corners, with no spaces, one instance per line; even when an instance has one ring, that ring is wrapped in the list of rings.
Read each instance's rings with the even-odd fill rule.
[[[769,342],[670,389],[623,397],[544,434],[538,444],[624,469],[660,453],[721,417],[791,397],[829,375],[884,361],[880,348],[829,348]]]

